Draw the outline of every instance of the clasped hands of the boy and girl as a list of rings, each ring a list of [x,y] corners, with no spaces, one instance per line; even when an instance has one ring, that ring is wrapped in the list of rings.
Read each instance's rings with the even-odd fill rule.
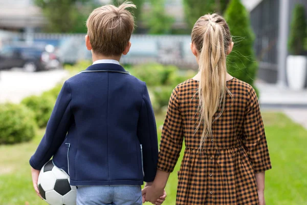
[[[165,191],[163,189],[156,188],[155,185],[145,187],[142,190],[142,195],[143,199],[145,197],[145,201],[149,201],[152,204],[158,204],[158,205],[160,205],[166,198]]]

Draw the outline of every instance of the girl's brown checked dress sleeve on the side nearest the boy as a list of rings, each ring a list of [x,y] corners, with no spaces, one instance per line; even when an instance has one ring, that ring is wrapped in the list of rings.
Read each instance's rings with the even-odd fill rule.
[[[172,172],[178,161],[183,142],[183,127],[178,100],[178,87],[170,96],[162,129],[158,169]]]

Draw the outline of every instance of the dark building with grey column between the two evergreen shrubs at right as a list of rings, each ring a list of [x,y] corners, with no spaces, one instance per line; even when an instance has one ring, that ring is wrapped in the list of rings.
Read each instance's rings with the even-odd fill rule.
[[[243,0],[250,10],[252,29],[255,32],[254,49],[259,61],[258,77],[268,83],[284,87],[288,37],[293,9],[306,0]]]

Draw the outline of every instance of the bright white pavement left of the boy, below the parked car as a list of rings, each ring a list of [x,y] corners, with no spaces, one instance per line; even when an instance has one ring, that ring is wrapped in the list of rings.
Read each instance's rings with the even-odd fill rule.
[[[19,103],[30,95],[39,95],[52,89],[69,77],[65,70],[24,72],[20,70],[0,72],[0,103]]]

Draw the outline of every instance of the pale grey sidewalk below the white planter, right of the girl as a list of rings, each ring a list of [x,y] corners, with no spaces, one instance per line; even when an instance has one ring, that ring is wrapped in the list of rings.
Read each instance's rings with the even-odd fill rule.
[[[307,90],[292,91],[262,81],[256,81],[256,87],[261,109],[279,110],[307,129]]]

